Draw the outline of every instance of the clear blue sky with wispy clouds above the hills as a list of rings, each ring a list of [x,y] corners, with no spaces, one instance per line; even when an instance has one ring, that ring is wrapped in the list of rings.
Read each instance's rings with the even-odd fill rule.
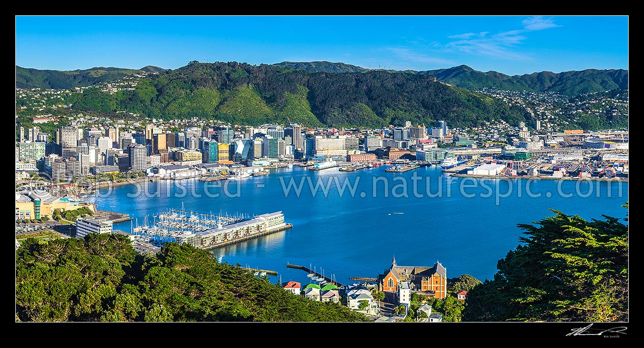
[[[333,61],[396,70],[466,64],[509,75],[628,69],[626,16],[15,17],[15,64],[179,68],[189,61]]]

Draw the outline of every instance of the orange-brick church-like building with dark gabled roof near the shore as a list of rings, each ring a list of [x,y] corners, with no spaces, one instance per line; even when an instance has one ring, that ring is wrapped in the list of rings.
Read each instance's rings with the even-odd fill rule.
[[[447,270],[440,262],[432,267],[398,266],[394,257],[392,266],[378,275],[378,287],[380,291],[398,291],[401,282],[410,282],[414,289],[428,292],[435,298],[447,296]]]

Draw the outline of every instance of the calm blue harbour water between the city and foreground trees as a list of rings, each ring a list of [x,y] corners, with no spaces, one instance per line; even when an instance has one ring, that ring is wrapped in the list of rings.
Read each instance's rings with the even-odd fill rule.
[[[323,269],[325,275],[352,284],[352,276],[377,276],[390,266],[393,255],[399,265],[433,266],[439,260],[448,278],[468,273],[484,280],[493,277],[497,261],[518,245],[522,231],[516,224],[552,216],[549,208],[587,219],[626,217],[621,205],[628,200],[627,182],[534,180],[528,185],[530,195],[540,193],[540,197],[529,197],[525,179],[454,178],[450,182],[436,166],[404,173],[386,173],[386,168],[345,172],[294,166],[227,182],[158,180],[139,188],[101,189],[95,203],[99,209],[128,213],[139,223],[146,215],[151,219],[168,208],[181,209],[182,204],[187,211],[244,213],[251,217],[283,211],[292,229],[213,253],[222,262],[278,271],[283,282],[303,283],[310,281],[306,273],[287,269],[287,262],[307,267],[312,264],[317,271]],[[374,177],[382,178],[375,184],[375,192]],[[293,186],[285,194],[291,179],[296,185],[303,180],[299,197]],[[318,180],[323,186],[328,184],[327,194],[318,187],[314,197],[308,180],[313,186]],[[355,195],[348,188],[340,195],[345,180],[350,184],[357,180]],[[422,197],[414,195],[414,180]],[[405,191],[403,182],[408,197],[396,197]],[[508,195],[509,185],[512,191]],[[588,195],[591,185],[593,191]],[[439,197],[429,197],[430,193],[437,195],[439,188]],[[488,197],[489,191],[492,194]],[[115,224],[115,229],[129,231],[130,223]],[[275,282],[279,276],[270,278]]]

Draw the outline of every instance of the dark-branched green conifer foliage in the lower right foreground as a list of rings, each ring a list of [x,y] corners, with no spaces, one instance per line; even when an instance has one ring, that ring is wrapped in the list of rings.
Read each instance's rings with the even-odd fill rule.
[[[527,237],[468,293],[464,321],[628,320],[628,226],[553,212],[518,225]]]

